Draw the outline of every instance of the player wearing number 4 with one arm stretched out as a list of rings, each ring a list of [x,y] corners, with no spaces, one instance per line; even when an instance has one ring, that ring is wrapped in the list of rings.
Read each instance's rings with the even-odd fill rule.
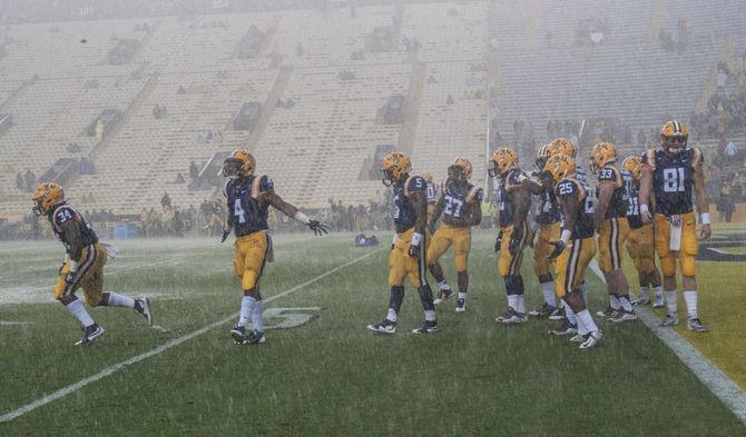
[[[275,192],[272,178],[254,175],[255,169],[256,160],[246,150],[234,151],[223,163],[223,176],[229,180],[224,191],[228,211],[227,227],[220,241],[225,241],[230,231],[236,236],[233,267],[244,291],[238,324],[230,329],[230,336],[236,345],[256,345],[266,341],[259,279],[264,266],[272,260],[272,239],[267,234],[269,206],[306,225],[317,236],[327,234],[325,224],[310,219],[296,207],[284,201]],[[246,332],[249,320],[254,330]]]

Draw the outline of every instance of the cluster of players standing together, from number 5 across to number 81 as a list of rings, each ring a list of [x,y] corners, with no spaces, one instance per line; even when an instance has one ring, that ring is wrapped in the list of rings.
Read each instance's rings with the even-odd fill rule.
[[[654,307],[668,309],[660,325],[678,324],[678,259],[687,328],[707,330],[697,314],[694,202],[696,199],[700,213],[700,237],[707,239],[709,200],[704,185],[703,153],[688,148],[687,140],[686,127],[674,120],[661,129],[660,149],[642,156],[622,160],[612,143],[597,143],[590,153],[590,170],[597,177],[595,188],[576,161],[576,147],[567,139],[558,138],[541,147],[533,171],[520,168],[513,150],[498,149],[488,171],[498,182],[500,232],[494,250],[500,254],[498,271],[504,281],[508,307],[497,321],[517,325],[527,321],[528,316],[562,320],[551,334],[571,336],[570,340],[581,349],[596,346],[603,335],[586,305],[585,276],[598,255],[609,304],[597,317],[611,322],[635,320],[634,304],[650,304],[654,292]],[[428,175],[411,172],[410,158],[404,153],[390,153],[382,162],[382,171],[383,183],[393,188],[396,226],[389,256],[391,298],[386,317],[367,329],[382,334],[396,331],[404,279],[409,277],[424,308],[424,322],[414,332],[434,332],[439,329],[434,305],[454,295],[438,261],[450,246],[458,275],[455,310],[467,309],[471,227],[481,221],[483,191],[469,182],[472,167],[463,158],[457,158],[448,168],[438,195],[434,185],[425,179]],[[531,215],[534,196],[539,202]],[[438,227],[441,216],[442,225]],[[521,276],[527,246],[533,246],[533,270],[544,300],[541,308],[528,312]],[[635,301],[622,269],[625,246],[638,272],[640,291]],[[662,281],[656,268],[656,254]],[[436,299],[428,284],[425,267],[438,282]]]

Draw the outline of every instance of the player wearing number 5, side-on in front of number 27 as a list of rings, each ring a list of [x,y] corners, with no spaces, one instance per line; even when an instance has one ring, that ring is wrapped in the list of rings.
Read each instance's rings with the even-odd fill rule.
[[[404,279],[415,287],[422,300],[425,320],[414,334],[438,331],[438,319],[432,290],[426,278],[425,254],[428,249],[428,192],[424,178],[411,175],[410,157],[402,152],[389,153],[381,163],[382,182],[393,188],[393,219],[396,234],[389,255],[389,285],[391,298],[389,312],[382,322],[369,325],[367,329],[381,334],[395,334],[399,310],[404,299]]]

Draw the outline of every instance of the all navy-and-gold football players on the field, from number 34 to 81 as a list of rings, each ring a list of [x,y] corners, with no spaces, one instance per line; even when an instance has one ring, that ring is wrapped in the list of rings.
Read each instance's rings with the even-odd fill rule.
[[[612,322],[637,319],[634,304],[667,307],[661,326],[678,324],[676,261],[679,260],[687,327],[707,328],[697,314],[697,255],[694,202],[700,215],[700,238],[710,236],[708,198],[703,175],[703,153],[687,147],[688,131],[678,121],[661,129],[660,149],[621,160],[616,147],[599,142],[591,150],[590,170],[597,176],[591,188],[588,175],[576,161],[576,147],[558,138],[540,148],[536,169],[526,171],[518,156],[508,148],[498,149],[489,162],[489,175],[495,179],[499,235],[498,271],[504,282],[508,306],[497,321],[503,325],[526,322],[528,316],[560,320],[551,330],[571,336],[580,348],[596,346],[602,332],[588,310],[585,276],[598,255],[598,268],[606,280],[609,304],[597,317]],[[222,241],[235,234],[233,265],[239,278],[243,297],[237,325],[229,335],[239,345],[266,341],[263,324],[263,297],[259,279],[266,262],[273,260],[268,235],[269,206],[308,226],[316,235],[326,234],[326,225],[310,219],[284,201],[268,176],[255,175],[256,161],[246,150],[236,150],[225,160],[222,175],[228,178],[224,196],[227,203],[226,227]],[[439,264],[453,247],[458,295],[455,311],[467,310],[471,227],[482,220],[484,192],[470,182],[471,163],[457,158],[446,169],[439,187],[428,175],[412,172],[410,158],[393,152],[382,162],[383,183],[393,190],[395,235],[389,254],[391,297],[385,318],[367,329],[395,334],[397,315],[404,299],[404,281],[416,288],[424,309],[424,321],[415,334],[439,330],[435,306],[457,295],[445,280]],[[531,211],[532,198],[537,208]],[[102,291],[104,265],[117,249],[100,244],[96,232],[80,212],[65,199],[62,188],[53,182],[39,186],[33,195],[35,213],[48,217],[55,235],[66,247],[66,259],[59,271],[55,298],[82,325],[84,337],[77,344],[89,344],[104,334],[75,292],[82,288],[90,306],[132,308],[153,325],[147,298],[134,299],[114,291]],[[440,226],[439,226],[440,222]],[[521,276],[523,251],[533,247],[533,271],[543,296],[540,308],[527,311]],[[638,272],[639,295],[632,301],[629,282],[622,270],[622,248],[634,260]],[[661,275],[656,268],[658,256]],[[428,284],[428,271],[438,284],[438,297]],[[652,297],[651,297],[652,294]],[[252,322],[253,330],[247,331]]]

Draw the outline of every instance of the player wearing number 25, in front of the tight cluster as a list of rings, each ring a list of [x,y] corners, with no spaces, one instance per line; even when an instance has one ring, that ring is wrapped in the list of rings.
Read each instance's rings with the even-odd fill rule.
[[[554,195],[562,213],[559,240],[552,241],[554,249],[549,255],[554,261],[554,290],[565,302],[567,319],[551,331],[554,335],[576,334],[570,340],[579,342],[581,349],[596,346],[603,336],[591,317],[580,294],[580,284],[586,269],[596,255],[593,239],[593,213],[587,202],[590,188],[576,176],[575,159],[567,155],[553,155],[544,169],[551,173]]]

